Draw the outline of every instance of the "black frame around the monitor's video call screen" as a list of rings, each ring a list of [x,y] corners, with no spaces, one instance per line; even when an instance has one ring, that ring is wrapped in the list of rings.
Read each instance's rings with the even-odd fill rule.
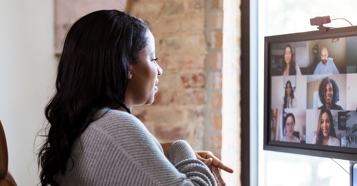
[[[337,37],[353,37],[357,36],[357,26],[331,28],[329,30],[300,32],[292,34],[284,34],[278,36],[267,36],[264,38],[264,142],[263,150],[276,152],[302,154],[310,156],[318,156],[324,158],[336,158],[350,161],[357,161],[357,148],[348,147],[331,147],[314,144],[293,144],[289,142],[270,141],[270,112],[271,112],[271,76],[270,76],[270,44],[310,41],[317,39],[330,39]],[[310,147],[310,148],[306,148]],[[311,149],[314,148],[314,149]],[[341,150],[345,152],[341,152]]]

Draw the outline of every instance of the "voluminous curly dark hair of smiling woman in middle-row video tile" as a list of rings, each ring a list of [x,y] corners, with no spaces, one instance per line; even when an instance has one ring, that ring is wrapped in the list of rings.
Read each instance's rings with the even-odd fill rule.
[[[333,91],[332,100],[331,100],[332,104],[336,104],[337,101],[340,101],[340,89],[338,89],[338,85],[336,81],[326,77],[322,79],[320,85],[318,86],[318,96],[320,97],[320,101],[322,105],[325,105],[326,103],[325,94],[326,94],[326,86],[328,83],[332,84],[332,91]]]

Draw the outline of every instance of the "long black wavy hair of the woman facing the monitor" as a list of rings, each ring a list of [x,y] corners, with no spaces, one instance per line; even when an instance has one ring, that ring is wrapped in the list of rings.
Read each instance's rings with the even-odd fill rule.
[[[147,44],[147,23],[118,10],[100,10],[77,20],[60,58],[56,92],[45,108],[46,137],[38,155],[40,184],[58,185],[71,146],[103,107],[124,108],[129,63]],[[73,160],[72,160],[73,161]]]

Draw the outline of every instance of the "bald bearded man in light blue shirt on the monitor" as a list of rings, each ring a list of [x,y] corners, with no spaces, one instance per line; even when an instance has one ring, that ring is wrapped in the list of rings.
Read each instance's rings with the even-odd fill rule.
[[[328,59],[328,50],[326,47],[321,49],[321,61],[317,64],[313,74],[339,74],[335,63]]]

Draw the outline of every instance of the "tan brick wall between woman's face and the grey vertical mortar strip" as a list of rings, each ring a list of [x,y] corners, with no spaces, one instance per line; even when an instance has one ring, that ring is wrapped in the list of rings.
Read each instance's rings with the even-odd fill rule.
[[[204,149],[208,99],[205,7],[205,0],[132,0],[127,7],[149,23],[164,71],[154,103],[132,112],[160,142],[185,139],[195,150]]]

